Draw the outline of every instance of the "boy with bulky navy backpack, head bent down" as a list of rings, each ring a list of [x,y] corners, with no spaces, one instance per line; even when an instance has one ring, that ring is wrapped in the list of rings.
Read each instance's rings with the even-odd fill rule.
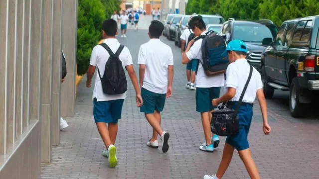
[[[188,23],[189,28],[195,36],[205,36],[207,34],[206,25],[201,16],[194,16]],[[187,48],[182,55],[182,63],[187,64],[192,59],[203,61],[202,41],[203,38],[194,38],[188,42]],[[224,86],[224,75],[216,74],[214,76],[206,75],[206,63],[199,63],[196,74],[196,111],[201,114],[206,142],[199,149],[206,152],[213,152],[218,147],[219,138],[217,135],[211,137],[210,123],[211,112],[216,106],[213,106],[211,100],[219,97],[220,88]]]

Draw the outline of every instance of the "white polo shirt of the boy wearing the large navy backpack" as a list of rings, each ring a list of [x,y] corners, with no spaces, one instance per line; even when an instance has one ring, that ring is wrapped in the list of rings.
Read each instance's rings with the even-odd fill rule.
[[[205,35],[207,31],[201,33],[201,35]],[[201,53],[201,42],[203,39],[198,39],[194,42],[193,46],[190,50],[186,53],[188,59],[199,59],[203,60],[202,53]],[[214,75],[214,76],[207,76],[204,72],[204,68],[199,63],[198,71],[195,79],[196,87],[198,88],[211,88],[211,87],[223,87],[224,86],[224,74]]]

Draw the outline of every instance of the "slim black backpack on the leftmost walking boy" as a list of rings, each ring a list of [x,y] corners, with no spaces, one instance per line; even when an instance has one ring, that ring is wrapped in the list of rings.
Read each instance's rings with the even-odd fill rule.
[[[107,44],[102,43],[100,45],[110,54],[110,57],[105,64],[103,77],[101,77],[98,68],[103,92],[106,94],[123,94],[128,88],[122,61],[119,59],[119,55],[121,54],[124,45],[120,45],[115,54]]]

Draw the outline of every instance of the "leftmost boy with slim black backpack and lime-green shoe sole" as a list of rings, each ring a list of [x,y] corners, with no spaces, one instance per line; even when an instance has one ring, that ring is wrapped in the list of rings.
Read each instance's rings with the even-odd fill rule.
[[[90,66],[87,72],[86,87],[91,87],[95,72],[95,85],[93,90],[93,115],[98,131],[106,146],[102,153],[108,157],[110,167],[118,164],[116,147],[114,146],[118,132],[118,120],[121,118],[122,106],[126,98],[127,81],[124,69],[133,83],[136,91],[136,103],[143,104],[139,83],[134,71],[132,56],[127,47],[121,45],[116,39],[117,22],[113,19],[105,20],[102,24],[104,42],[92,50]]]

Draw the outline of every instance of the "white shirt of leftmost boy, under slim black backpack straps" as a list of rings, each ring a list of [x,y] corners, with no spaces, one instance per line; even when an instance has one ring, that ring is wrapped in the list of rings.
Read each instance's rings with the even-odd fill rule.
[[[113,53],[116,53],[116,51],[120,47],[120,43],[117,39],[105,39],[103,43],[106,43],[110,47]],[[101,77],[103,77],[103,74],[105,71],[105,64],[109,60],[109,57],[110,57],[109,53],[101,45],[96,45],[92,50],[90,65],[97,66],[99,68]],[[127,47],[124,47],[124,49],[122,50],[119,56],[119,59],[122,61],[123,69],[125,69],[126,66],[133,64],[132,55]],[[99,74],[96,74],[92,99],[94,99],[95,97],[97,101],[125,99],[126,92],[124,92],[123,94],[115,94],[115,95],[105,94],[102,89],[102,84],[101,84],[101,79],[99,77]]]

